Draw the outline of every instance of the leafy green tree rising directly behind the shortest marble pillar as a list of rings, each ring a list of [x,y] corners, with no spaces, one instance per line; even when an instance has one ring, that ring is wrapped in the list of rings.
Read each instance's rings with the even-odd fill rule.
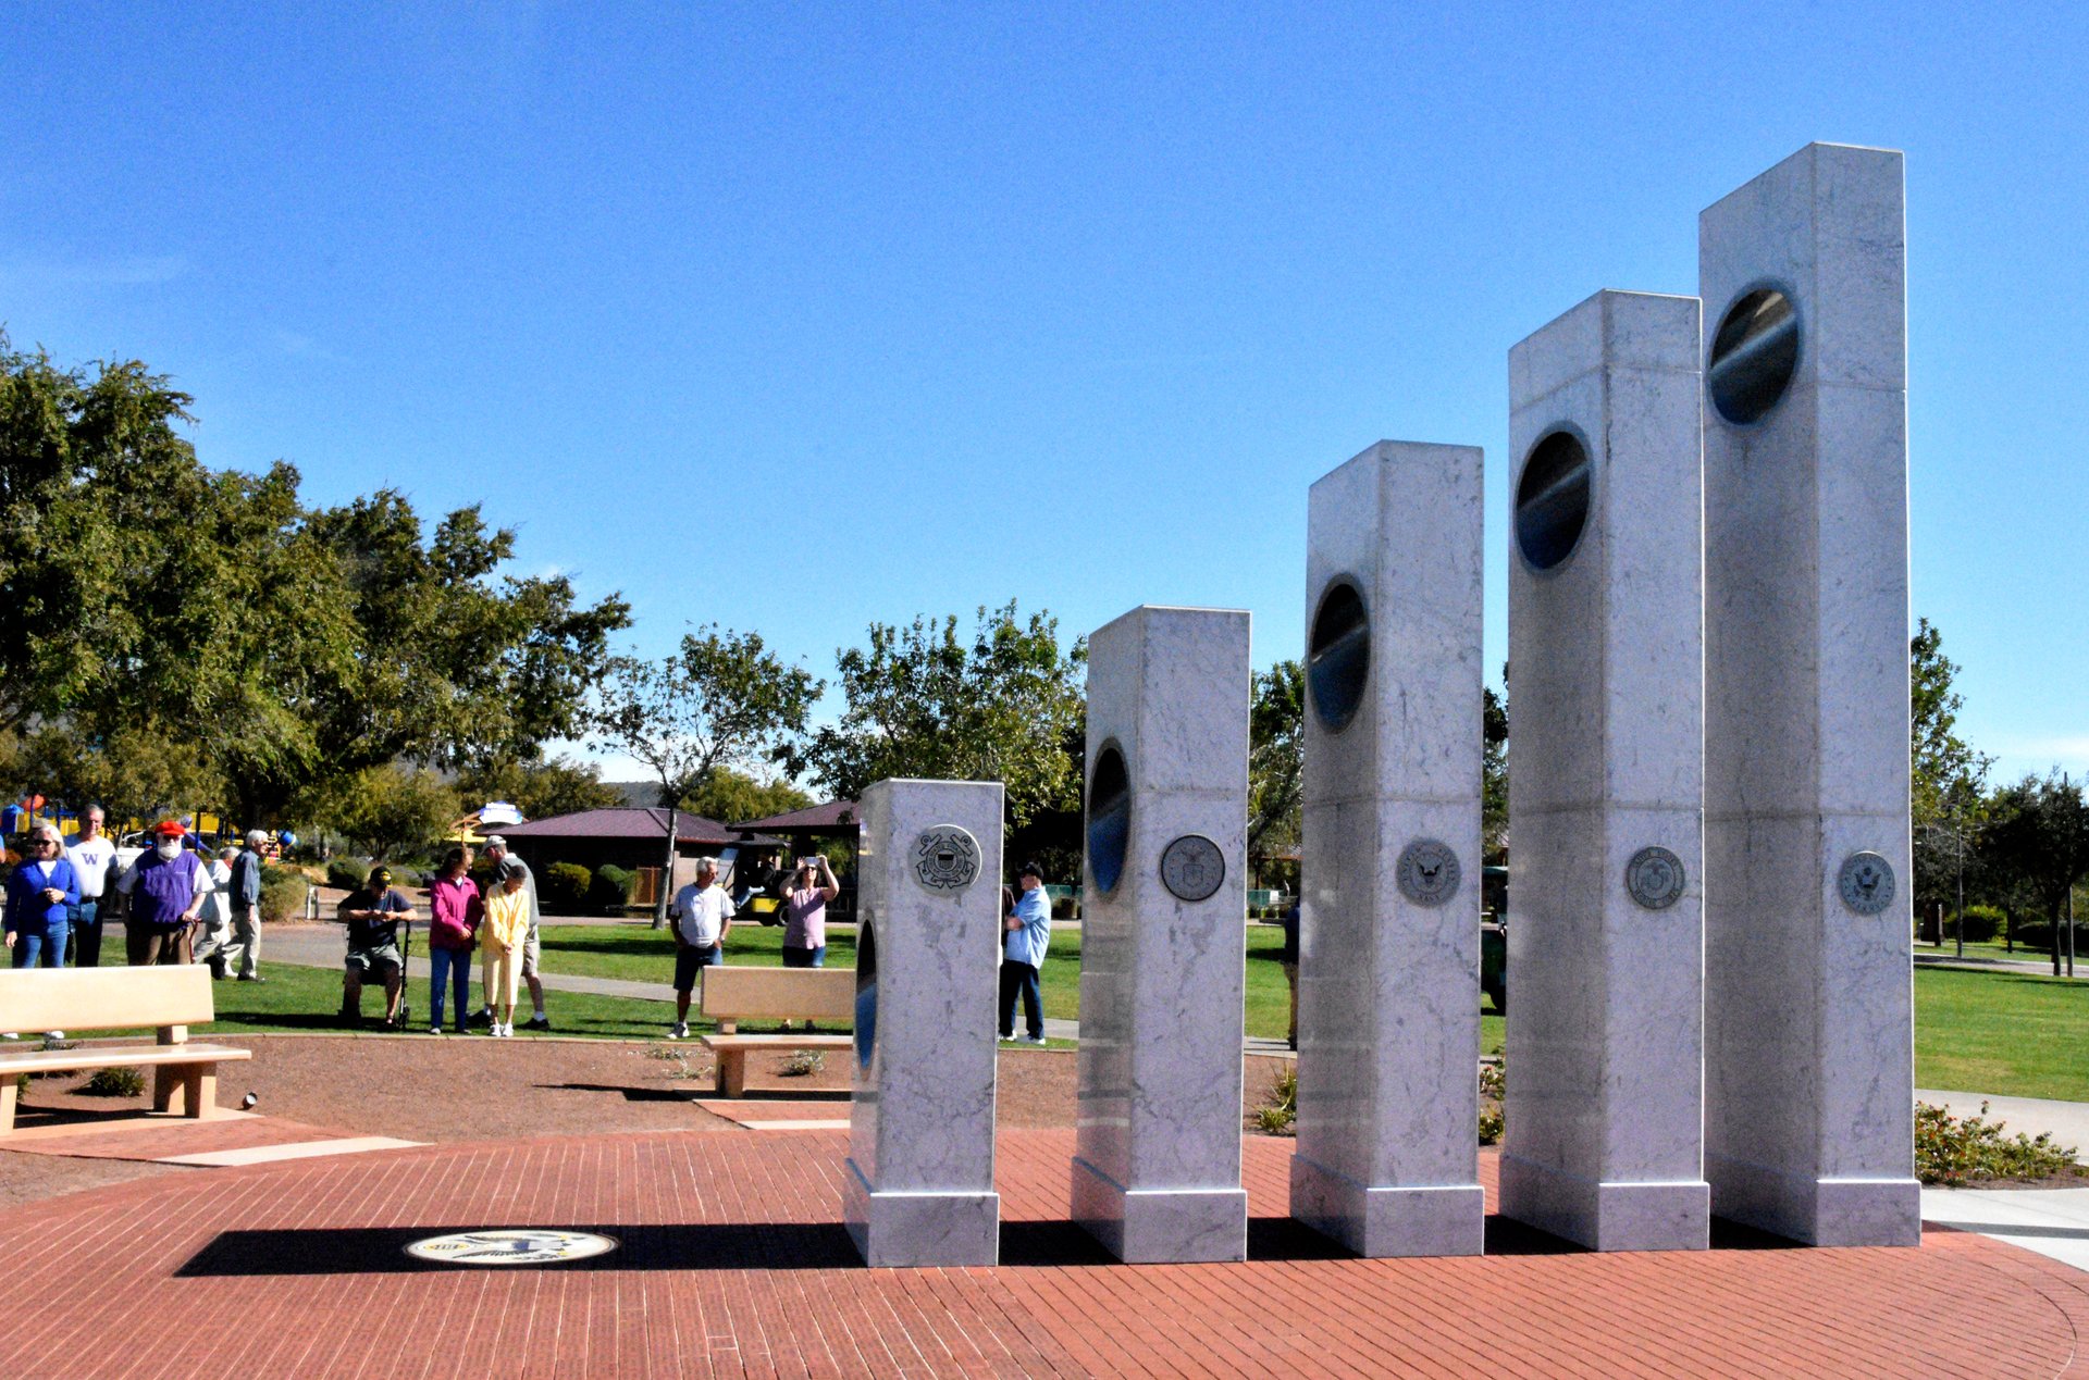
[[[1040,812],[1078,808],[1080,770],[1065,739],[1082,722],[1086,641],[1059,649],[1059,622],[1015,601],[976,614],[971,639],[957,616],[919,616],[900,628],[873,622],[869,645],[838,653],[840,722],[788,758],[811,766],[831,795],[861,800],[888,777],[1001,781],[1011,827]]]

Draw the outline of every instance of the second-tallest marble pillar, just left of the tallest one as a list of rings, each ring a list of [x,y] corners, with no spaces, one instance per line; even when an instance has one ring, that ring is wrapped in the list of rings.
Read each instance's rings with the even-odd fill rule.
[[[1508,353],[1502,1213],[1703,1251],[1698,303],[1598,292]]]

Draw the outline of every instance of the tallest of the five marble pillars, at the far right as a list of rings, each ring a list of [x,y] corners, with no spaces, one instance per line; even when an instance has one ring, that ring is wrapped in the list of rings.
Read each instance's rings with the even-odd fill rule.
[[[1713,1211],[1922,1240],[1901,154],[1809,144],[1698,219]]]

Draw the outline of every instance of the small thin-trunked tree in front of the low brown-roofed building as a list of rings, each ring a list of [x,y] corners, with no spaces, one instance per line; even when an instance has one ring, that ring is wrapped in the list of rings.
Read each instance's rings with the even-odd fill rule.
[[[760,633],[717,624],[683,635],[681,649],[658,662],[616,658],[610,664],[589,724],[610,747],[652,768],[660,779],[660,804],[668,808],[654,929],[666,925],[681,800],[702,791],[721,766],[790,754],[821,689],[813,672],[769,651]]]

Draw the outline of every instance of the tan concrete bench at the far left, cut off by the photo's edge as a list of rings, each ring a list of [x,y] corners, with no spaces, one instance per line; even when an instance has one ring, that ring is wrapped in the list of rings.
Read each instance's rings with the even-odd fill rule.
[[[253,1050],[190,1044],[188,1027],[213,1019],[211,971],[196,965],[150,969],[10,969],[0,973],[0,1029],[125,1029],[152,1025],[157,1044],[0,1054],[0,1136],[15,1129],[15,1079],[146,1065],[152,1111],[205,1119],[217,1111],[217,1065]]]

